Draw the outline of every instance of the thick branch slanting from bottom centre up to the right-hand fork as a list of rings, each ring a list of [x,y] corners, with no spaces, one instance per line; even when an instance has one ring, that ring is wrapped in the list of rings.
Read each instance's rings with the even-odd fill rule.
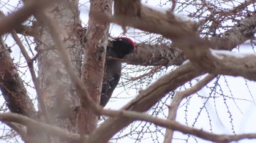
[[[142,90],[137,98],[129,102],[122,109],[145,112],[171,90],[175,90],[178,86],[183,85],[200,74],[203,73],[195,69],[192,63],[184,63],[176,70],[159,78],[157,82],[154,82],[146,90]],[[109,118],[91,133],[89,142],[108,142],[111,136],[116,134],[121,128],[129,125],[132,121],[131,119],[127,119],[127,117]]]

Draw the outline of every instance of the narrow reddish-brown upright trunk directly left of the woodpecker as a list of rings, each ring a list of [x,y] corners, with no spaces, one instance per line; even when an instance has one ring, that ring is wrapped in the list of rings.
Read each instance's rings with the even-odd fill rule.
[[[112,0],[91,1],[89,13],[89,26],[86,35],[86,45],[84,50],[84,64],[82,80],[89,91],[91,98],[99,104],[100,93],[102,90],[102,80],[104,76],[105,51],[108,45],[109,23],[101,23],[94,18],[92,12],[103,12],[110,15],[112,12]],[[90,134],[97,127],[99,115],[86,107],[81,107],[78,113],[78,133]]]

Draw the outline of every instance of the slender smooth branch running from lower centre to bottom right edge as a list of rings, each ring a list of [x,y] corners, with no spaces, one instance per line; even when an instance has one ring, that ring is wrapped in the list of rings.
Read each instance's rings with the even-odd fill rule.
[[[200,137],[201,139],[206,139],[212,142],[233,142],[238,141],[241,139],[255,139],[256,134],[240,134],[240,135],[218,135],[218,134],[212,134],[207,131],[203,131],[202,129],[197,128],[191,128],[187,125],[182,125],[181,123],[178,123],[173,120],[164,120],[159,117],[154,117],[151,115],[147,115],[146,113],[140,113],[140,112],[132,112],[132,111],[113,111],[113,110],[103,110],[103,115],[109,115],[111,117],[128,117],[132,120],[143,120],[146,122],[154,123],[156,125],[170,128],[174,131],[181,131],[183,134],[192,134],[197,137]],[[98,136],[99,137],[99,136]],[[89,141],[91,142],[91,141]],[[99,142],[99,140],[98,140]]]

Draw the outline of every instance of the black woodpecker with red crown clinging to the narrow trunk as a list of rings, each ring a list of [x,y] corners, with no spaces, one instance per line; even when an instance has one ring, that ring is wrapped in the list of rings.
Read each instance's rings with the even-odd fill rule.
[[[105,107],[121,77],[121,60],[135,50],[135,43],[127,37],[109,39],[106,51],[105,73],[102,82],[100,105]]]

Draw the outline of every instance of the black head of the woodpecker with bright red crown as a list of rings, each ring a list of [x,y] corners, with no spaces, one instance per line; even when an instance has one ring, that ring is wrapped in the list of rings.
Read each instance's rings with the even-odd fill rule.
[[[135,42],[127,37],[118,37],[116,39],[110,39],[113,42],[113,50],[118,55],[118,58],[124,58],[125,55],[132,53],[135,50]]]

